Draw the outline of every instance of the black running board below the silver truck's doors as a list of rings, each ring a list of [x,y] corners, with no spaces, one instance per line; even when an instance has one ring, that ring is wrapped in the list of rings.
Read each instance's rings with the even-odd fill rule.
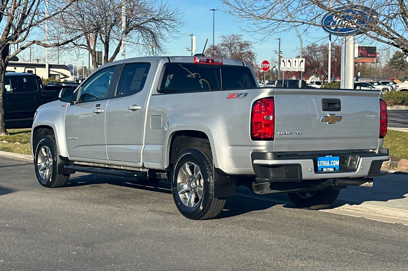
[[[64,166],[65,169],[73,172],[84,172],[84,173],[96,173],[111,176],[120,177],[132,177],[137,179],[147,179],[149,177],[146,171],[136,171],[136,170],[124,170],[124,169],[113,169],[104,168],[98,166],[80,166],[80,165],[69,165]]]

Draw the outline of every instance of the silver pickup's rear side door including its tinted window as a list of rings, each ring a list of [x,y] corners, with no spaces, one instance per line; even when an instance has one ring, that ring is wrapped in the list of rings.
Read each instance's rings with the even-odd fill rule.
[[[140,162],[146,99],[157,60],[122,64],[118,87],[106,107],[109,160]]]

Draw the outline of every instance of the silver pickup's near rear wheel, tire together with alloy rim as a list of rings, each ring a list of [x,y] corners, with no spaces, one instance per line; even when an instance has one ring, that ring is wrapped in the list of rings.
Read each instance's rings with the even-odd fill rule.
[[[214,197],[214,167],[211,149],[184,151],[171,173],[171,191],[180,213],[188,219],[215,218],[226,199]]]

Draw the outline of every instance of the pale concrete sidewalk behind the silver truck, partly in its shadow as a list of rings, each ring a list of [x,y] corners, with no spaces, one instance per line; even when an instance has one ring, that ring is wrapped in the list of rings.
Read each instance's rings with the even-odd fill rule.
[[[256,195],[238,187],[237,195],[292,206],[286,194]],[[324,212],[408,225],[408,174],[390,173],[374,179],[373,187],[348,186]]]

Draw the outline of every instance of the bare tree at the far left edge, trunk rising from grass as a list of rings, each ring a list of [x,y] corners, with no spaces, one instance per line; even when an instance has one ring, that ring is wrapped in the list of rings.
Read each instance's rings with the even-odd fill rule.
[[[60,41],[36,40],[30,39],[34,29],[40,30],[44,24],[60,24],[64,25],[67,22],[54,20],[60,15],[67,13],[69,9],[78,4],[78,2],[88,5],[92,9],[94,2],[91,0],[65,0],[64,1],[49,1],[47,6],[43,0],[1,0],[0,5],[0,135],[7,135],[8,132],[4,123],[4,107],[3,107],[3,92],[4,92],[4,74],[6,67],[12,57],[29,46],[36,44],[46,48],[62,46],[69,44],[74,40],[80,39],[82,36],[95,31],[99,26],[92,25],[89,28],[81,29],[81,31],[71,32],[64,35]],[[47,7],[47,10],[46,10]],[[100,18],[103,22],[104,18]],[[10,53],[10,46],[17,45],[17,50]]]

